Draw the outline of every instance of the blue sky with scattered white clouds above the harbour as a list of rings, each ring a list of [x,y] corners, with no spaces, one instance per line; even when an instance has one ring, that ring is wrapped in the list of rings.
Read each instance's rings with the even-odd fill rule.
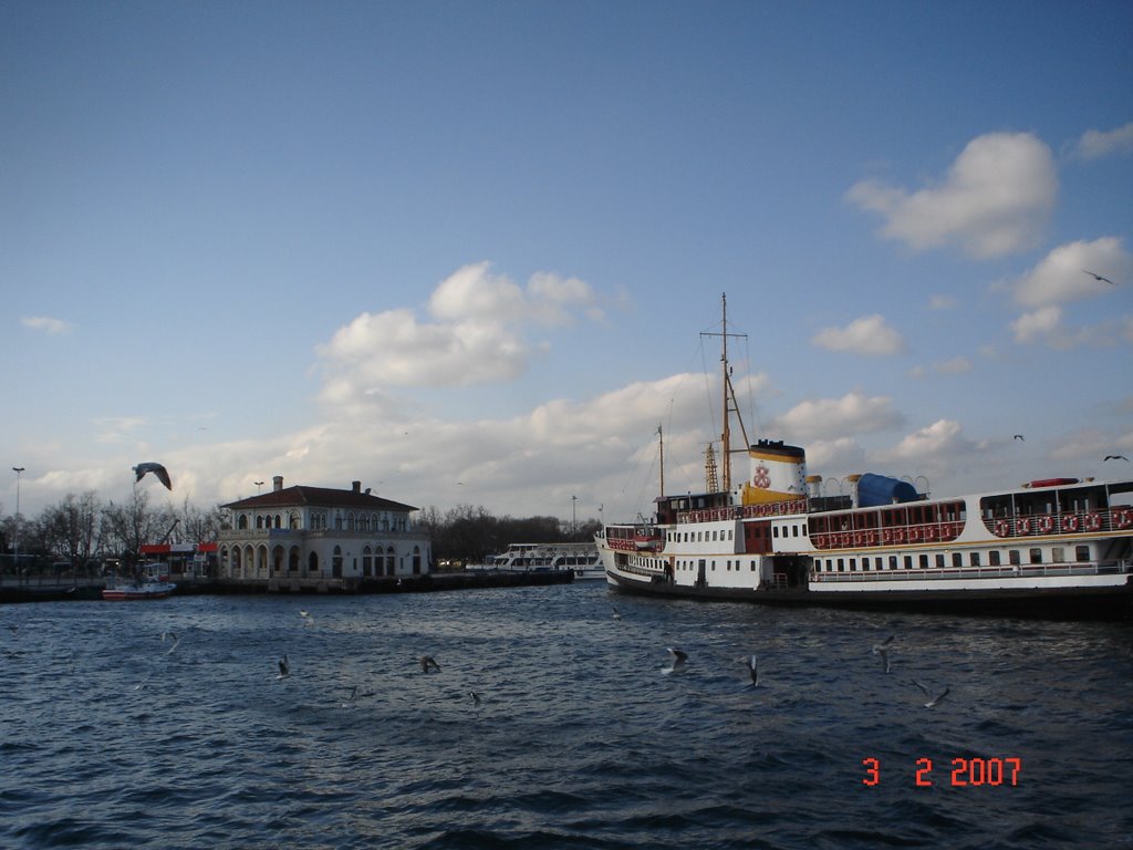
[[[0,516],[159,461],[173,507],[281,475],[630,520],[658,426],[704,490],[725,294],[748,436],[827,493],[1131,477],[1131,33],[1126,2],[8,0]]]

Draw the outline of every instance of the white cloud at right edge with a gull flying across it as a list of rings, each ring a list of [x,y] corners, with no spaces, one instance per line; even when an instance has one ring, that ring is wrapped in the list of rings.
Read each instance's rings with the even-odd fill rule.
[[[1133,277],[1133,257],[1119,238],[1105,236],[1059,245],[1014,282],[1015,300],[1024,307],[1041,307],[1114,290],[1116,283],[1098,280],[1094,274],[1113,281]]]

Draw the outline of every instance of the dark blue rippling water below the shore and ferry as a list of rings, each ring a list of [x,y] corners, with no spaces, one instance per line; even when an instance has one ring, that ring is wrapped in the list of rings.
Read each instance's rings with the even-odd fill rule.
[[[577,584],[8,605],[0,653],[5,848],[1133,848],[1128,624]]]

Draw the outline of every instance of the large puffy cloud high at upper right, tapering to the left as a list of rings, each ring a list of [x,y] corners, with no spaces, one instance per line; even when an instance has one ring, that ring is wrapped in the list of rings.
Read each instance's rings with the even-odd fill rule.
[[[909,192],[863,180],[846,199],[880,213],[887,238],[918,250],[957,245],[987,258],[1032,247],[1057,194],[1043,142],[1029,133],[990,133],[972,139],[936,186]]]

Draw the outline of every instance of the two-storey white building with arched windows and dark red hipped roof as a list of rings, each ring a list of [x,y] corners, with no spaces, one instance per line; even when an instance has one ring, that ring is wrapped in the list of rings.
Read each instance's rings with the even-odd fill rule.
[[[429,571],[428,534],[414,527],[409,504],[350,490],[283,486],[221,505],[220,576],[269,583],[322,583],[419,576]]]

